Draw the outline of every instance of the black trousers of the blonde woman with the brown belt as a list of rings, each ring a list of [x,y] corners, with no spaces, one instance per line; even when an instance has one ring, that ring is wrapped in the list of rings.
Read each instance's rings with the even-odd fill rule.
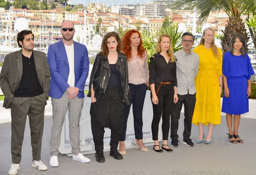
[[[157,89],[159,85],[160,83],[155,83],[155,89]],[[173,84],[162,85],[160,87],[159,92],[157,93],[158,104],[156,105],[152,103],[153,120],[151,124],[151,129],[152,129],[152,138],[154,141],[158,140],[158,127],[159,127],[161,116],[163,120],[163,123],[162,123],[163,140],[168,140],[173,95],[174,95]],[[151,92],[151,99],[152,99],[152,92]]]

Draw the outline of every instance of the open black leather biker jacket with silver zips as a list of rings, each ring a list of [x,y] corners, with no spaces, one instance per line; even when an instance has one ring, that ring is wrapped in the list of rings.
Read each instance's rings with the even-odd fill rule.
[[[124,54],[118,52],[118,59],[116,61],[116,69],[121,75],[122,95],[126,105],[129,105],[129,81],[128,81],[128,67],[127,59]],[[102,56],[102,52],[99,52],[94,60],[93,69],[90,75],[89,93],[87,97],[91,96],[91,87],[94,92],[105,93],[108,85],[108,80],[111,75],[108,58]]]

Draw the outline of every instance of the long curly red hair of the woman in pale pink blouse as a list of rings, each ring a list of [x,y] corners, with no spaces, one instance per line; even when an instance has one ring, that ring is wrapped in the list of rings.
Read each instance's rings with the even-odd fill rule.
[[[131,35],[133,33],[139,34],[139,37],[140,37],[140,45],[138,46],[138,49],[137,49],[138,50],[138,55],[141,58],[145,57],[145,51],[146,50],[143,47],[140,32],[137,31],[136,29],[131,29],[128,32],[126,32],[124,34],[124,36],[122,37],[123,48],[125,48],[122,52],[126,55],[127,61],[131,61],[131,39],[130,38],[131,38]]]

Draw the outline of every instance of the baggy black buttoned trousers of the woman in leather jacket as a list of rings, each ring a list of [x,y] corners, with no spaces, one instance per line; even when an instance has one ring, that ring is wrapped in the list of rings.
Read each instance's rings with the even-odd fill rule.
[[[118,87],[107,87],[105,94],[97,93],[96,102],[91,103],[91,128],[95,149],[104,146],[104,127],[111,129],[110,146],[117,148],[122,135],[125,102]]]

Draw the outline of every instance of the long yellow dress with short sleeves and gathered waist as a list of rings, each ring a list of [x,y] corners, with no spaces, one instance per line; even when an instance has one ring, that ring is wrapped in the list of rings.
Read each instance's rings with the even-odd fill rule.
[[[197,46],[193,52],[199,56],[198,75],[195,78],[196,103],[192,123],[208,125],[221,123],[221,97],[219,75],[222,67],[222,53],[218,48],[215,57],[212,48]]]

